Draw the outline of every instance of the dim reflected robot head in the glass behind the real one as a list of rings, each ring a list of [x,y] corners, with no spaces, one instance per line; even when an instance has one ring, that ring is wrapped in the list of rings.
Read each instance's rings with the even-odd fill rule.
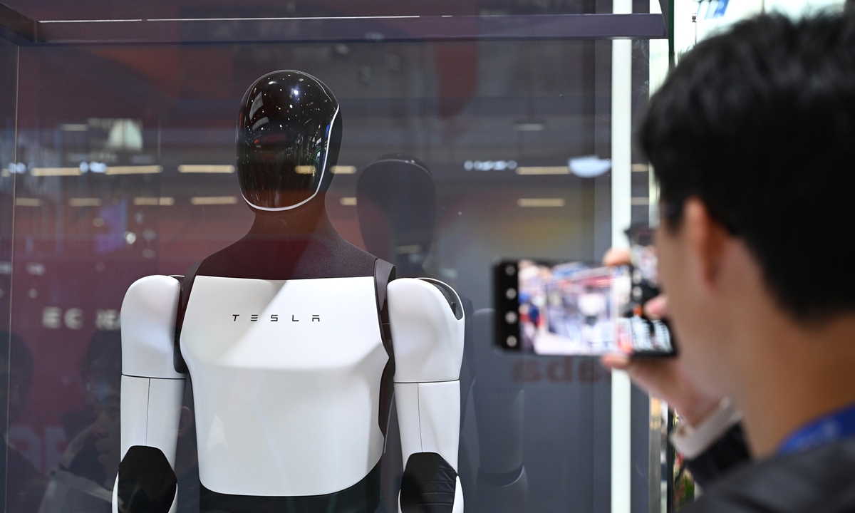
[[[357,180],[357,215],[365,248],[395,264],[398,276],[421,275],[433,243],[436,189],[416,158],[381,156]]]

